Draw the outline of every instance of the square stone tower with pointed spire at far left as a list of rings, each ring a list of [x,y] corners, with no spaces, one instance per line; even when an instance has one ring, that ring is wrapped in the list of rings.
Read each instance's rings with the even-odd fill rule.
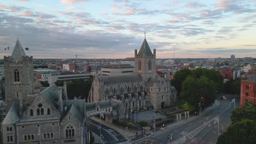
[[[20,115],[26,106],[27,94],[33,94],[33,57],[26,56],[19,39],[11,56],[4,56],[5,99],[7,111],[16,101]]]

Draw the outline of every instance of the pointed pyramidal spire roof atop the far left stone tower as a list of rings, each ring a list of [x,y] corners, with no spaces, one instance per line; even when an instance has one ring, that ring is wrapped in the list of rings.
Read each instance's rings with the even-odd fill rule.
[[[19,39],[17,39],[13,52],[11,53],[11,60],[20,62],[22,61],[22,56],[26,56],[26,53],[22,49]]]

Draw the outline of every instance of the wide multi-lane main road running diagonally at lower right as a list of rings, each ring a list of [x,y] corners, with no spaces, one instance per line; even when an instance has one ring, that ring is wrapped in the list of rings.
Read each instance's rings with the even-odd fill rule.
[[[221,94],[224,95],[224,94]],[[209,110],[199,118],[194,119],[183,125],[160,131],[148,139],[136,143],[168,143],[167,136],[173,134],[173,141],[179,139],[179,134],[190,138],[185,143],[216,143],[218,139],[218,123],[214,119],[219,116],[219,131],[223,131],[230,124],[231,111],[234,110],[234,103],[231,104],[232,97],[225,95],[227,100],[220,100],[219,105]],[[240,100],[236,99],[236,107],[240,105]],[[217,119],[216,119],[217,120]],[[182,135],[180,135],[182,137]]]

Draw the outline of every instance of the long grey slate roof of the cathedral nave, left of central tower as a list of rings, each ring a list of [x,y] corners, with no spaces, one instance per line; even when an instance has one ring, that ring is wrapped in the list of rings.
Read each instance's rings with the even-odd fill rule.
[[[103,83],[143,81],[141,75],[139,74],[97,76],[97,78],[100,82],[103,82]]]

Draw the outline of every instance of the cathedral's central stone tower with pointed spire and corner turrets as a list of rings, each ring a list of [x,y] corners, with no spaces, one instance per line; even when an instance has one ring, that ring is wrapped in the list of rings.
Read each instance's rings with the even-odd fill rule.
[[[156,74],[155,68],[155,57],[156,50],[153,50],[154,54],[150,50],[146,38],[141,45],[141,49],[137,53],[135,50],[135,73],[138,73],[142,76],[144,81],[148,81],[149,77],[152,77]]]

